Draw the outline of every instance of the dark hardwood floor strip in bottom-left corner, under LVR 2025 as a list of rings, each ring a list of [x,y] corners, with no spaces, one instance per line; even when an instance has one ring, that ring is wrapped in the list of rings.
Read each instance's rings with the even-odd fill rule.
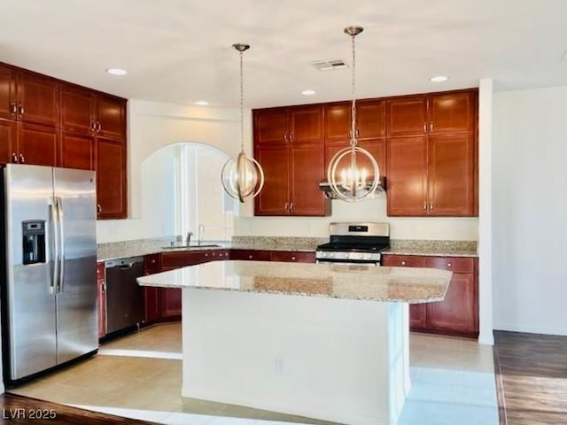
[[[154,425],[153,422],[91,412],[17,394],[0,395],[0,423],[50,425]]]

